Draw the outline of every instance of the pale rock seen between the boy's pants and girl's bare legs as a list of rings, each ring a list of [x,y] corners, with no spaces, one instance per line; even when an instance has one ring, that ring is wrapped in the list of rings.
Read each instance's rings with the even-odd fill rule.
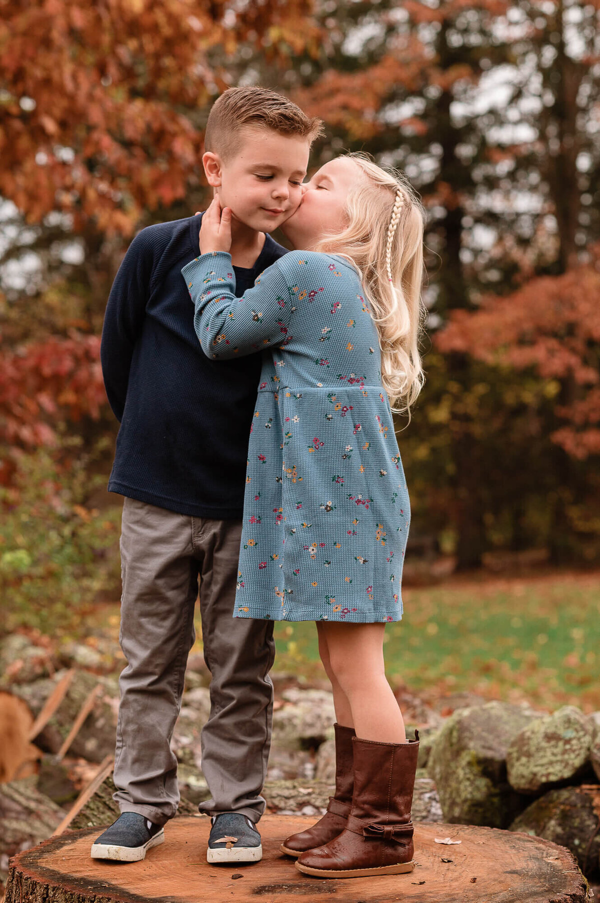
[[[273,747],[317,749],[333,736],[336,721],[333,694],[327,690],[290,687],[283,691],[282,699],[287,704],[273,712]]]

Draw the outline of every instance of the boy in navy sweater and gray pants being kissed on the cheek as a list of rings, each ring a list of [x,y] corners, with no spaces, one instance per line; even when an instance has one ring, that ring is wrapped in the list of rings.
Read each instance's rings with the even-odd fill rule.
[[[208,116],[202,163],[234,215],[232,258],[243,293],[285,254],[268,235],[301,197],[320,121],[263,88],[229,88]],[[115,800],[121,815],[93,844],[98,859],[138,861],[177,811],[170,741],[180,711],[198,595],[210,716],[202,770],[213,816],[208,861],[258,861],[271,744],[272,622],[233,608],[248,436],[261,355],[208,360],[180,267],[198,255],[201,215],[144,228],[106,306],[101,358],[121,422],[108,489],[125,496],[121,535]],[[224,838],[235,837],[233,843]]]

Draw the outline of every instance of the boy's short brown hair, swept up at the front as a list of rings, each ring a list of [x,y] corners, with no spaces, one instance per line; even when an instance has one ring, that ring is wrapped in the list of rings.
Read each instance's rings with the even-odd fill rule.
[[[323,134],[323,123],[307,116],[300,107],[282,94],[268,88],[227,88],[217,98],[208,114],[204,135],[207,151],[230,159],[241,145],[245,126],[270,128],[280,135],[297,135],[310,144]]]

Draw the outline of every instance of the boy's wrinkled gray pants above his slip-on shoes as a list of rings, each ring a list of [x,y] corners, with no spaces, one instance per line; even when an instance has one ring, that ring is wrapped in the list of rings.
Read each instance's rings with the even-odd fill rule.
[[[180,801],[170,741],[180,712],[198,597],[210,716],[200,734],[212,798],[200,811],[257,822],[272,728],[272,621],[234,618],[241,520],[188,517],[125,498],[115,800],[155,824]]]

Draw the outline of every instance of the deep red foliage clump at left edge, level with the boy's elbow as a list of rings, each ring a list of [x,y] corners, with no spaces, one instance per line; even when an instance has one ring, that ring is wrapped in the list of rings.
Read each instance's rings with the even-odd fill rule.
[[[0,442],[51,445],[58,419],[97,419],[106,395],[100,339],[73,330],[0,357]]]

